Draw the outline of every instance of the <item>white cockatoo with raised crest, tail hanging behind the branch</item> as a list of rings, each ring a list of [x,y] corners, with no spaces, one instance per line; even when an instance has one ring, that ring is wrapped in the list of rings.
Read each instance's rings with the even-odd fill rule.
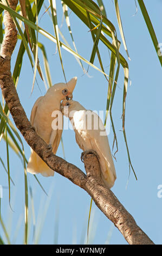
[[[61,129],[52,128],[51,124],[54,121],[52,113],[54,111],[60,111],[60,105],[63,99],[69,100],[69,98],[72,98],[76,81],[77,77],[74,77],[68,83],[54,84],[54,86],[47,90],[44,96],[36,100],[31,110],[31,125],[35,127],[36,132],[49,145],[49,148],[50,146],[52,147],[54,154],[56,154],[57,148],[59,147],[62,127]],[[63,121],[62,113],[61,119]],[[43,176],[54,175],[54,171],[47,166],[33,149],[31,149],[27,172],[32,174],[41,173]]]

